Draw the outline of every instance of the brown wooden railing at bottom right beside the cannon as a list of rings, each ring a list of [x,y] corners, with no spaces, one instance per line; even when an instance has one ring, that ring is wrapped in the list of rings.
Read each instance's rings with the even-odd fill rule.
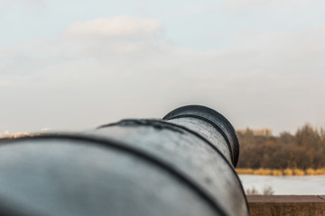
[[[251,216],[325,215],[325,195],[248,195]]]

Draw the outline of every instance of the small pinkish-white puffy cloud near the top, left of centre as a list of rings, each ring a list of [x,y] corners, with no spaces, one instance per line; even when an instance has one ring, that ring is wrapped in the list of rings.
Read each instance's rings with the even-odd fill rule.
[[[129,16],[98,18],[93,21],[71,24],[65,33],[72,37],[138,38],[156,36],[163,31],[163,24],[153,19]]]

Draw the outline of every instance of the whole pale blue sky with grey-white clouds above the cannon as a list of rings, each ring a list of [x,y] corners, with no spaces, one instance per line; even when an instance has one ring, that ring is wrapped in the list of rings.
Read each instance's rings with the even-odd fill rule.
[[[0,0],[0,134],[202,104],[236,129],[325,126],[322,0]]]

